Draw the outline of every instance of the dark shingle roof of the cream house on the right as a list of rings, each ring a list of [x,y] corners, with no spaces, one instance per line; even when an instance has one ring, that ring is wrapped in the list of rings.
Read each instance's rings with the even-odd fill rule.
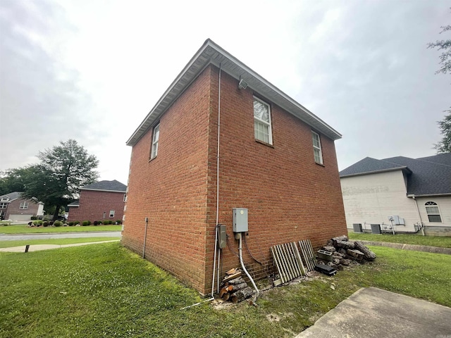
[[[388,170],[406,171],[407,194],[451,194],[451,153],[423,158],[397,156],[382,160],[367,157],[340,171],[340,177]]]

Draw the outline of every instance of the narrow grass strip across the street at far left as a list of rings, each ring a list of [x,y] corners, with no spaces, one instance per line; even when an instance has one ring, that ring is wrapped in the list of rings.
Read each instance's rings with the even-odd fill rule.
[[[36,234],[41,232],[121,231],[122,225],[88,225],[86,227],[28,227],[26,224],[0,226],[0,234]]]

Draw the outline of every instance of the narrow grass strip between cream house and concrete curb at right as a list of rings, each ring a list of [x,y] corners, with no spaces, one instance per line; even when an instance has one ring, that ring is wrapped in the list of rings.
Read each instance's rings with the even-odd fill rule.
[[[451,237],[445,236],[421,236],[418,234],[357,234],[354,232],[350,232],[348,236],[350,239],[364,241],[417,244],[451,248]]]

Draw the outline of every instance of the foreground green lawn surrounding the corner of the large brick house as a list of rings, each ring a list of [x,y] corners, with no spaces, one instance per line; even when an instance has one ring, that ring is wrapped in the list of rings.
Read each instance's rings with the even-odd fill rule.
[[[117,243],[0,253],[0,337],[293,337],[360,287],[451,306],[451,256],[371,247],[376,261],[218,309]],[[271,319],[271,320],[269,320]]]

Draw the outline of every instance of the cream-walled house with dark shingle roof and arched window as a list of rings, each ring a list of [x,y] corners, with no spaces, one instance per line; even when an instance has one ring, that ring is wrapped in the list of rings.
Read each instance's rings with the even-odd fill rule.
[[[366,157],[340,172],[346,222],[386,232],[451,236],[451,153]],[[357,228],[359,226],[357,225]]]

